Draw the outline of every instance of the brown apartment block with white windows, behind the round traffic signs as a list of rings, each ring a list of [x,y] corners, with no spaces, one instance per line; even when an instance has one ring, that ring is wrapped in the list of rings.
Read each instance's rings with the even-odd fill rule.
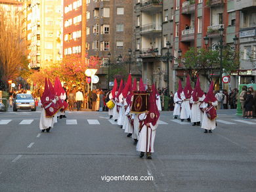
[[[108,53],[111,64],[116,63],[120,55],[122,62],[129,57],[133,35],[132,1],[87,0],[86,3],[87,52],[89,56],[98,56],[102,59],[102,67],[96,73],[100,77],[98,86],[108,88]],[[110,81],[112,80],[110,78]]]

